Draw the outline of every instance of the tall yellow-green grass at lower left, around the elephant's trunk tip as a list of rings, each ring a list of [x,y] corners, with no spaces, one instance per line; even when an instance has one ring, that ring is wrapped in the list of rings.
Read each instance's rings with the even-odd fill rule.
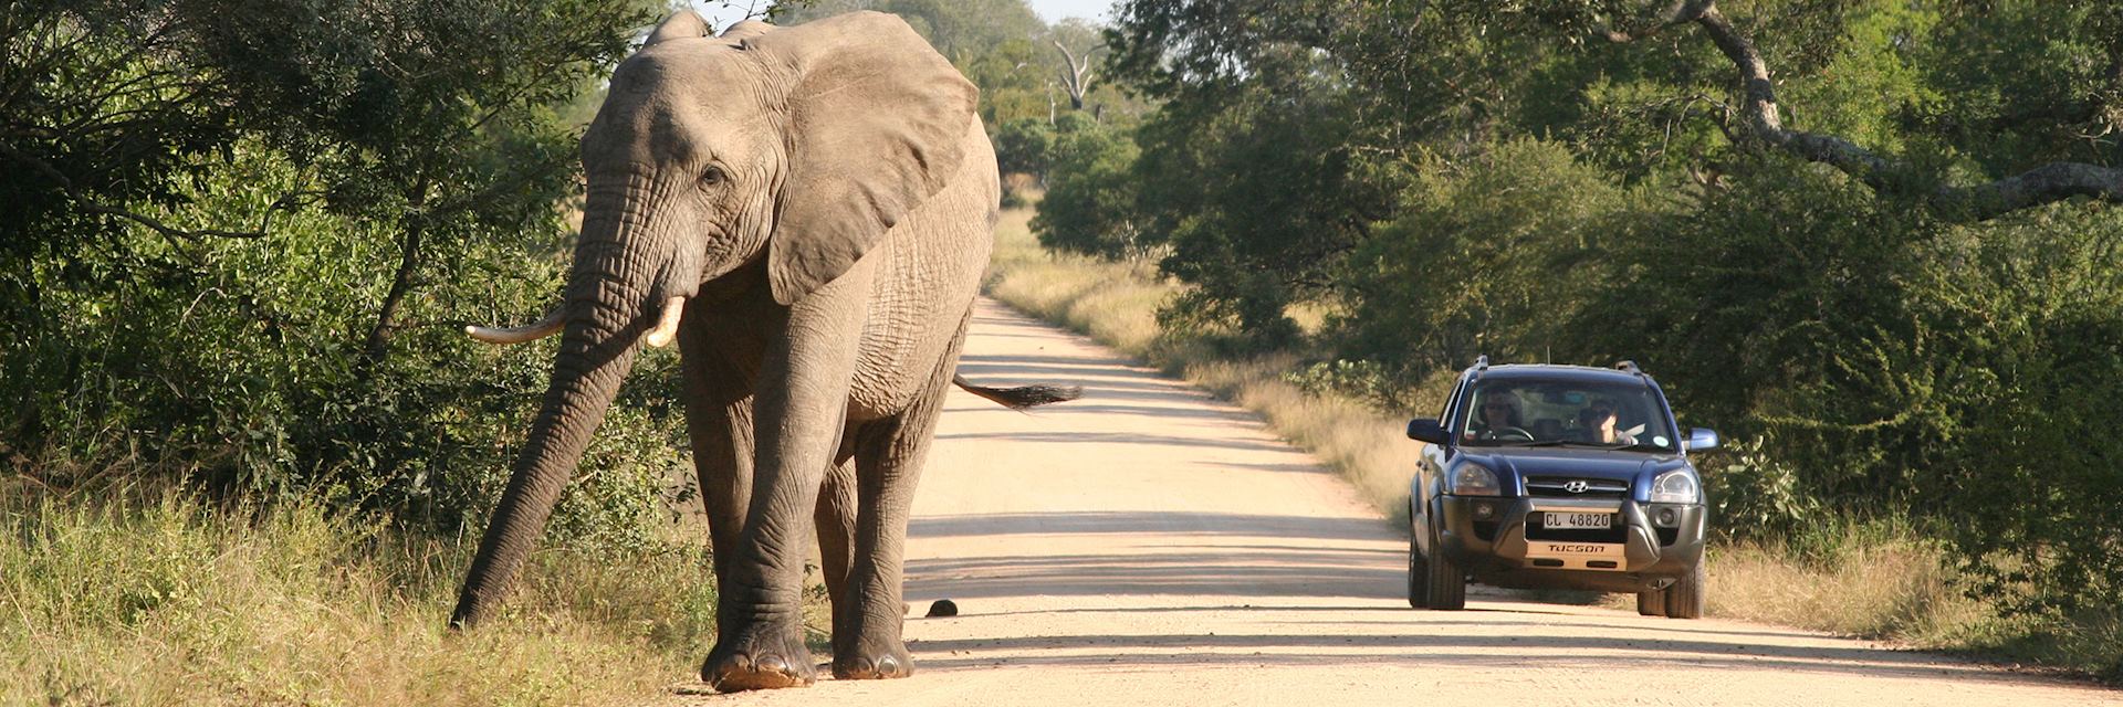
[[[450,633],[476,539],[306,503],[6,493],[4,705],[639,703],[713,641],[705,539],[541,550],[501,616]]]

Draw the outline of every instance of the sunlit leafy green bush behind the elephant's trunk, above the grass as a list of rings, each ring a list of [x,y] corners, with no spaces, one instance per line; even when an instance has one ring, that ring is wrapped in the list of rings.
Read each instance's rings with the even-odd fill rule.
[[[295,170],[240,151],[193,197],[195,214],[265,200]],[[552,221],[556,225],[556,217]],[[537,412],[552,342],[486,346],[465,323],[529,321],[554,304],[565,234],[471,244],[408,301],[391,355],[363,367],[374,301],[391,282],[389,238],[323,210],[278,219],[272,238],[212,240],[157,280],[72,280],[117,270],[81,253],[38,261],[13,287],[40,297],[8,316],[28,346],[0,363],[0,410],[19,473],[53,488],[163,480],[217,495],[323,495],[408,522],[478,527]],[[132,234],[132,248],[157,238]],[[639,535],[662,516],[677,465],[675,361],[643,357],[554,520],[560,537]]]

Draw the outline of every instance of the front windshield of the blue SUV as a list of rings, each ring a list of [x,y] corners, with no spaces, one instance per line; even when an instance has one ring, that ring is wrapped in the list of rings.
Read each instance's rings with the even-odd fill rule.
[[[1465,446],[1675,450],[1664,408],[1641,382],[1484,380],[1459,420]]]

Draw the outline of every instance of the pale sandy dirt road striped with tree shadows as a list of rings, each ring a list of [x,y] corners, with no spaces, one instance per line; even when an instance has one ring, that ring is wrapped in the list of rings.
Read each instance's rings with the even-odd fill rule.
[[[1480,588],[1416,611],[1403,533],[1253,416],[991,301],[962,372],[1085,397],[1019,414],[951,393],[909,541],[917,675],[684,703],[2123,705],[1792,628]],[[943,597],[962,616],[921,618]]]

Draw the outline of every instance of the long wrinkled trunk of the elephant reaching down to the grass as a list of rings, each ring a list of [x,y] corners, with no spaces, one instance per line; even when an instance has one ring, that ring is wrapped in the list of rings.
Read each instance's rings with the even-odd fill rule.
[[[597,210],[592,193],[590,214]],[[614,200],[624,202],[624,200]],[[560,352],[554,359],[546,401],[531,427],[531,437],[516,456],[507,490],[486,524],[480,554],[471,561],[465,588],[459,592],[450,626],[469,626],[486,618],[516,582],[516,571],[546,531],[560,490],[573,478],[590,433],[605,420],[605,410],[633,367],[639,342],[656,329],[675,329],[673,312],[650,314],[658,278],[669,265],[656,238],[641,238],[637,219],[597,219],[584,225],[575,248],[575,268],[567,284],[567,325],[560,331]],[[622,234],[633,231],[633,234]],[[673,297],[669,308],[684,301]],[[669,323],[667,323],[669,321]]]

